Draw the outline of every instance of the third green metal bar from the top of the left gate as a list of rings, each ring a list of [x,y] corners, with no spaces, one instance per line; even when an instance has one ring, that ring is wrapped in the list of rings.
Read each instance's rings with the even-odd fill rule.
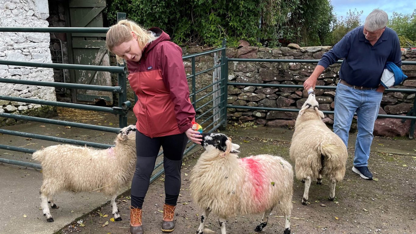
[[[82,84],[72,84],[72,83],[34,81],[34,80],[17,80],[17,79],[6,79],[6,78],[0,78],[0,83],[36,85],[36,86],[47,86],[47,87],[62,87],[62,88],[71,88],[71,89],[79,89],[79,90],[109,91],[109,92],[116,92],[116,93],[124,92],[124,90],[118,86],[113,87],[113,86],[101,86],[101,85],[82,85]]]

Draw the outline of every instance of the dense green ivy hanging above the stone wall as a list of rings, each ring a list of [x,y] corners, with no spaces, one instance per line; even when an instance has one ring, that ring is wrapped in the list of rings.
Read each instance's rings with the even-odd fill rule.
[[[159,27],[179,45],[228,46],[281,43],[321,45],[334,19],[329,0],[107,0],[109,24],[116,12],[142,26]]]

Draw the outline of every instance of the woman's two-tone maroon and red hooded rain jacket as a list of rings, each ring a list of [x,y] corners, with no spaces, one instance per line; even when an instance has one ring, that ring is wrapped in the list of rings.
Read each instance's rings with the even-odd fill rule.
[[[127,61],[128,79],[138,97],[136,127],[151,138],[180,134],[195,118],[182,49],[161,29],[149,30],[158,38],[144,47],[139,62]]]

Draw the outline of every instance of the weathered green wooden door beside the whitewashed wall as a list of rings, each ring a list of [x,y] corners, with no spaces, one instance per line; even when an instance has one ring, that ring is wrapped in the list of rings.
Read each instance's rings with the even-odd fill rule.
[[[103,27],[102,11],[106,0],[70,0],[71,27]],[[109,55],[105,47],[104,33],[72,33],[74,64],[109,66]],[[109,72],[75,70],[75,83],[111,86]],[[95,104],[105,101],[113,104],[111,92],[73,90],[72,100],[78,103]],[[101,104],[101,103],[100,103]]]

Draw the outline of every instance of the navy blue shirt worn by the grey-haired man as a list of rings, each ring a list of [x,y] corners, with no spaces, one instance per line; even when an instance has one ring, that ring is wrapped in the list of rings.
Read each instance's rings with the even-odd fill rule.
[[[379,40],[372,46],[363,34],[364,26],[348,32],[334,47],[322,55],[318,65],[325,69],[344,58],[339,78],[350,85],[376,88],[380,84],[386,62],[401,66],[399,37],[386,27]]]

